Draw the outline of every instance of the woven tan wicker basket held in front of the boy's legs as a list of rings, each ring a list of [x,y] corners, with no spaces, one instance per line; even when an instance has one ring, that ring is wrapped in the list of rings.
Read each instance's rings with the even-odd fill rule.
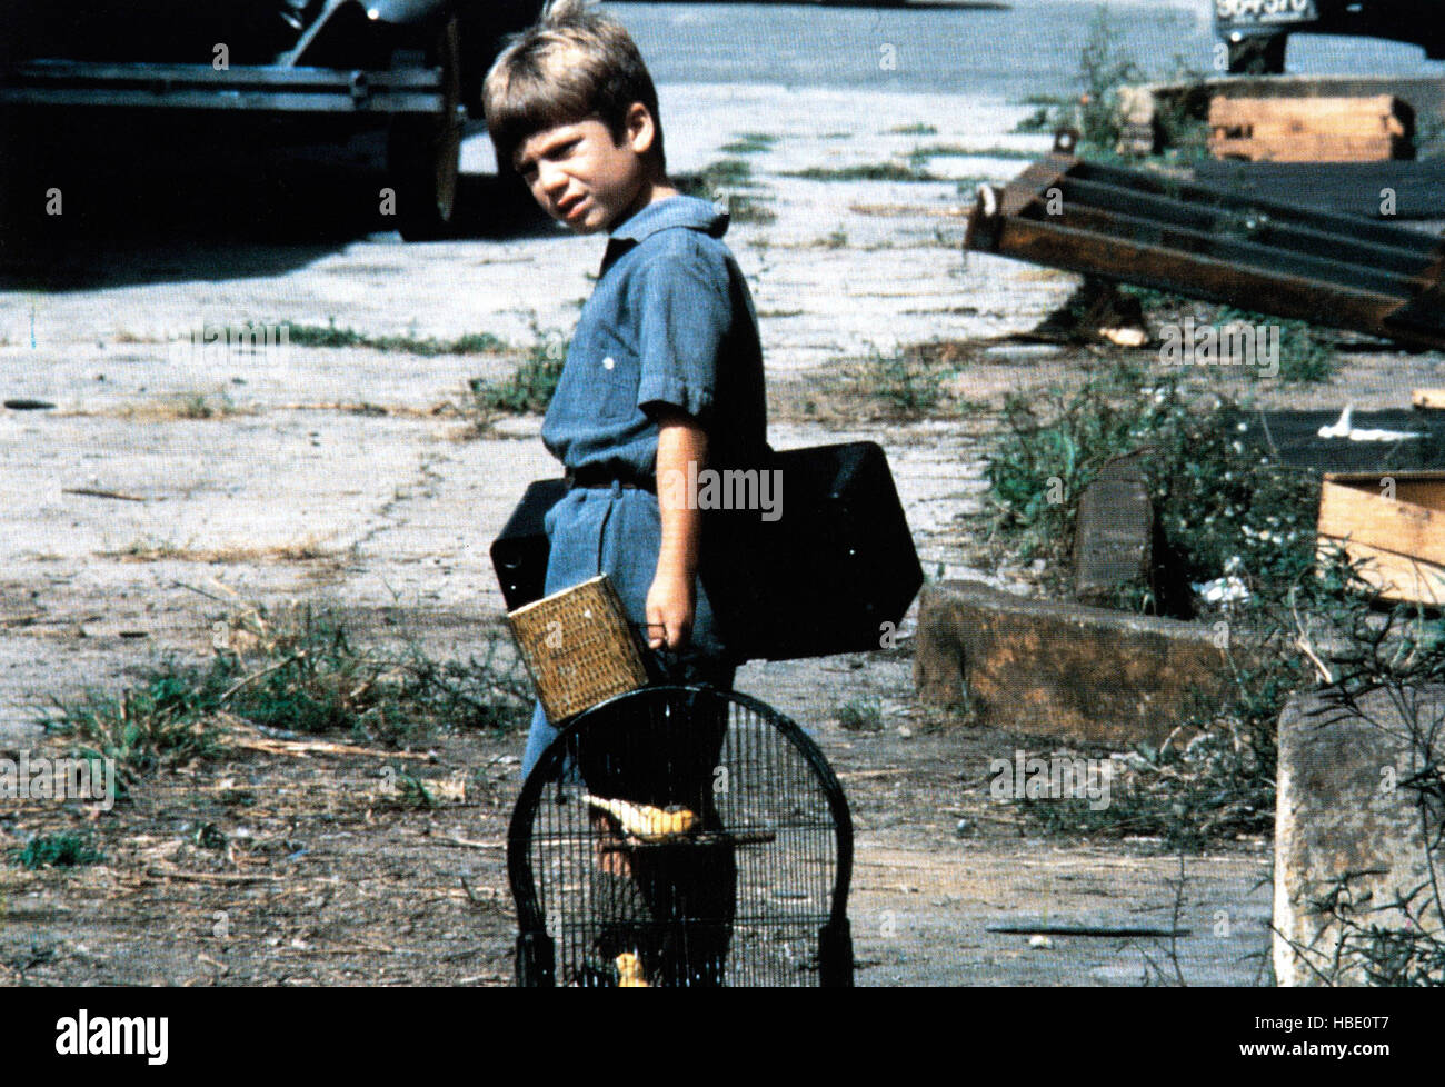
[[[553,724],[647,685],[637,639],[605,574],[507,614]]]

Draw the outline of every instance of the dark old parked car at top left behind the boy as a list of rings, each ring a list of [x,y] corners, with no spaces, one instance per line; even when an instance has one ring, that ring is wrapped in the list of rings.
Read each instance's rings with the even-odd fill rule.
[[[10,133],[56,111],[273,119],[308,140],[387,136],[403,237],[448,228],[481,81],[542,0],[6,0],[0,110]],[[20,119],[16,121],[16,119]],[[14,152],[23,140],[12,136]],[[0,155],[10,159],[13,155]]]

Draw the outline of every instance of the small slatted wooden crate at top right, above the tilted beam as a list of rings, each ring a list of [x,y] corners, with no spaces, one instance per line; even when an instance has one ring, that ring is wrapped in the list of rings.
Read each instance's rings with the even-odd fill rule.
[[[1380,162],[1415,158],[1415,113],[1368,98],[1215,98],[1209,153],[1248,162]]]

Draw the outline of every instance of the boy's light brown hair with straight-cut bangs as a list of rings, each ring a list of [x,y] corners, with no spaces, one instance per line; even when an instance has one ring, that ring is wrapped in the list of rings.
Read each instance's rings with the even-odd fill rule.
[[[558,124],[597,119],[621,146],[633,103],[652,114],[656,134],[649,156],[662,171],[662,120],[647,65],[623,25],[592,10],[588,0],[551,0],[536,25],[503,49],[483,84],[500,169],[513,166],[517,147],[532,136]]]

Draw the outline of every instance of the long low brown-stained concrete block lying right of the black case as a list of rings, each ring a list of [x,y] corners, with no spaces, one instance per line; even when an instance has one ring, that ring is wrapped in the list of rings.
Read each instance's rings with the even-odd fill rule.
[[[925,701],[967,692],[983,724],[1066,740],[1159,743],[1191,688],[1218,695],[1220,630],[1098,607],[1025,600],[977,581],[923,587],[913,682]]]

